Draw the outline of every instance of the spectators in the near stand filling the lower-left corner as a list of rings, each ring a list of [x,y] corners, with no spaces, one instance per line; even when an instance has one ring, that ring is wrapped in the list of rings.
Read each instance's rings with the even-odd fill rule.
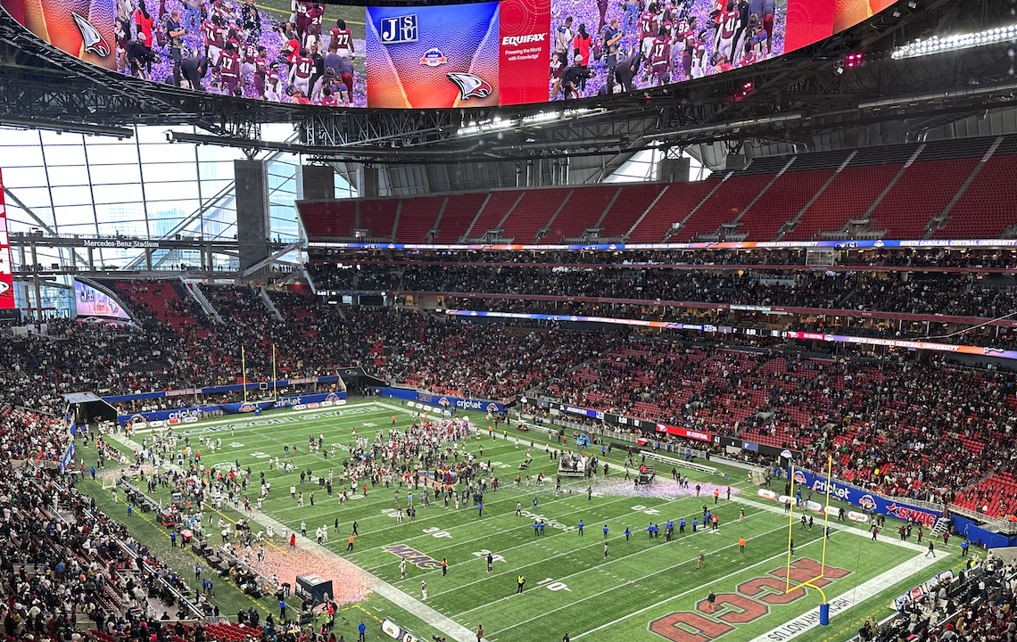
[[[0,419],[0,604],[12,638],[78,640],[91,635],[168,640],[157,618],[215,607],[187,588],[122,523],[66,478],[56,462],[70,436],[61,421],[8,408]],[[87,440],[79,440],[87,446]],[[95,448],[95,447],[93,447]],[[189,604],[188,604],[189,602]],[[88,634],[86,634],[88,635]],[[139,635],[144,637],[139,638]],[[103,638],[106,639],[106,638]]]

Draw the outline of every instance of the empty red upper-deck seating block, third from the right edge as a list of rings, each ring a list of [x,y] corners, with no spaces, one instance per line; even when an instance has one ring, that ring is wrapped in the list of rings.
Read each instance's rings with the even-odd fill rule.
[[[849,167],[837,175],[809,206],[784,241],[812,241],[820,232],[836,232],[860,218],[900,171],[899,165]]]

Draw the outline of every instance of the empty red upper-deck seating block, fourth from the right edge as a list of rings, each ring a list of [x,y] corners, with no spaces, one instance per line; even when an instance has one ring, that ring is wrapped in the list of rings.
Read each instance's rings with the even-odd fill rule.
[[[832,175],[832,170],[785,172],[741,217],[738,233],[749,235],[745,241],[777,238],[780,228],[798,215]]]

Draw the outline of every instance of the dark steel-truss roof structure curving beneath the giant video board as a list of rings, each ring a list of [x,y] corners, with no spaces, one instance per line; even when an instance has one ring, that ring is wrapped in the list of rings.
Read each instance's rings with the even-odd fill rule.
[[[856,146],[874,130],[897,141],[1012,108],[1017,79],[1006,43],[890,57],[895,47],[917,38],[999,26],[1008,15],[1005,4],[902,0],[893,11],[800,52],[699,81],[566,103],[538,123],[522,119],[547,113],[548,106],[328,111],[180,90],[92,67],[41,43],[3,14],[0,123],[124,136],[129,130],[116,128],[186,123],[208,133],[175,139],[248,151],[285,147],[321,162],[504,164],[487,172],[503,179],[512,165],[553,157],[569,157],[574,172],[602,178],[635,152],[658,145],[710,145],[698,155],[718,167],[726,153],[743,153],[746,147],[786,152]],[[864,52],[866,64],[838,73],[852,52]],[[752,91],[735,100],[747,82]],[[472,125],[494,119],[502,119],[496,136]],[[261,125],[279,122],[292,123],[300,142],[262,142]]]

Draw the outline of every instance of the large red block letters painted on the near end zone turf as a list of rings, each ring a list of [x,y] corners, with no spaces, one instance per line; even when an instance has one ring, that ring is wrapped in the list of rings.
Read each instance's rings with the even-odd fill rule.
[[[791,572],[786,568],[770,571],[768,575],[741,582],[733,593],[717,594],[716,613],[706,613],[706,599],[696,604],[696,611],[675,612],[649,624],[650,631],[671,642],[708,642],[734,631],[734,626],[745,624],[770,614],[771,606],[789,604],[805,596],[804,588],[784,593],[786,578],[791,582],[805,582],[820,574],[820,563],[809,558],[795,560]],[[850,575],[847,569],[826,567],[826,577],[816,580],[819,587]],[[707,617],[709,615],[709,617]]]

